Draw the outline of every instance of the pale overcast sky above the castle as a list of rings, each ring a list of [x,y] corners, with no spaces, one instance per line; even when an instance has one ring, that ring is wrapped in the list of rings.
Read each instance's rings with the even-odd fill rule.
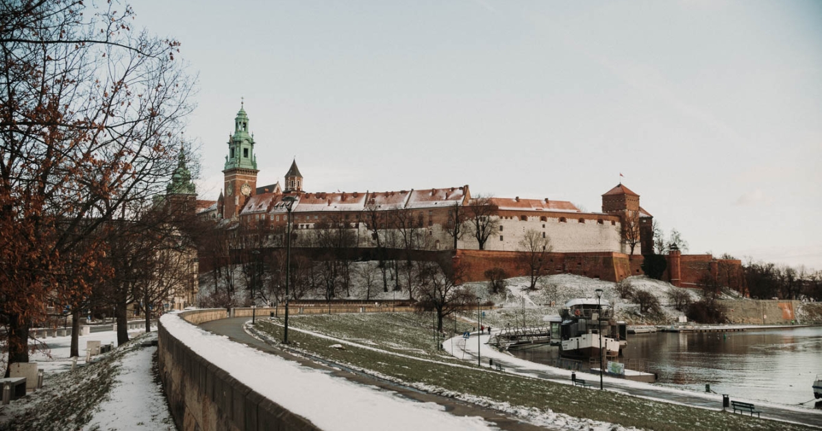
[[[690,253],[822,269],[822,2],[141,0],[199,74],[222,187],[245,98],[257,184],[468,184],[601,211],[620,181]]]

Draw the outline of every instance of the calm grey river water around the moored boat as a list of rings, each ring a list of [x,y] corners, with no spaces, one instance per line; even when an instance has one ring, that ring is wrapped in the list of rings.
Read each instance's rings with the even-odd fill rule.
[[[511,353],[546,364],[556,357],[556,349],[547,346]],[[814,400],[811,385],[822,374],[822,327],[635,334],[628,336],[623,355],[647,360],[658,383],[667,386],[704,391],[709,384],[731,398],[797,405]]]

